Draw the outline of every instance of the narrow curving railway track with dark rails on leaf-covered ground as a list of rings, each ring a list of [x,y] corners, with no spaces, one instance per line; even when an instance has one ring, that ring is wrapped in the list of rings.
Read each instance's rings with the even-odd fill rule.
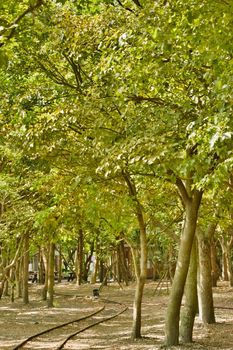
[[[109,301],[111,302],[111,301]],[[97,309],[96,311],[80,317],[78,319],[71,320],[66,323],[62,323],[55,327],[48,328],[42,332],[31,335],[16,345],[12,350],[18,349],[43,349],[49,350],[61,350],[65,345],[73,340],[79,333],[95,327],[103,322],[109,322],[113,318],[116,318],[127,310],[127,307],[121,307],[119,310],[113,308],[106,308],[105,306]],[[40,344],[40,345],[39,345]],[[47,345],[47,347],[46,347]]]

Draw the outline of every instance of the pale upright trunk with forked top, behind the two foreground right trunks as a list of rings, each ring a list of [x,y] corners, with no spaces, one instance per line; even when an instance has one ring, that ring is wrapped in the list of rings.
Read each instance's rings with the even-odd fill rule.
[[[211,274],[211,239],[216,224],[211,224],[206,233],[197,230],[198,237],[198,305],[199,318],[203,323],[215,323]]]

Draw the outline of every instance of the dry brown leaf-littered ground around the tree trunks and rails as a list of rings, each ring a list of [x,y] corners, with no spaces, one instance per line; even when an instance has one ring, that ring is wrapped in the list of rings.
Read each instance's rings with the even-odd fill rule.
[[[92,296],[99,285],[82,285],[63,282],[55,287],[54,308],[47,308],[41,301],[41,286],[30,283],[30,303],[23,305],[21,300],[11,303],[9,298],[0,301],[0,350],[13,349],[18,343],[32,334],[63,322],[73,320],[84,313],[90,313],[103,306],[115,305],[128,309],[108,323],[103,323],[80,333],[65,349],[105,349],[105,350],[157,350],[164,342],[164,316],[168,302],[169,285],[148,281],[142,305],[142,339],[130,339],[132,327],[132,304],[134,286],[123,287],[110,283],[104,286],[98,298]],[[120,305],[121,303],[123,305]],[[202,325],[195,320],[194,342],[172,347],[176,350],[233,349],[233,288],[220,282],[214,288],[216,323]],[[35,343],[37,344],[37,343]],[[52,350],[52,343],[43,342],[31,350]]]

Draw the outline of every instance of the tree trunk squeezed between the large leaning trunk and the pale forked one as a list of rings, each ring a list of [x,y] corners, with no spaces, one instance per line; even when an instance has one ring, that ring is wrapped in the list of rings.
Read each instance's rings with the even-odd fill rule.
[[[185,304],[181,311],[180,338],[183,343],[193,340],[193,325],[198,310],[197,302],[197,242],[193,241],[190,265],[185,284]]]

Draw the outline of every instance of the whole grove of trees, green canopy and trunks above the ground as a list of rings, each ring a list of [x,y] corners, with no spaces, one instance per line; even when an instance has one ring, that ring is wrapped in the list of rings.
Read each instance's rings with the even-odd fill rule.
[[[164,344],[233,286],[233,3],[0,4],[0,299],[171,283]],[[183,305],[183,306],[182,306]],[[182,308],[181,308],[182,306]]]

